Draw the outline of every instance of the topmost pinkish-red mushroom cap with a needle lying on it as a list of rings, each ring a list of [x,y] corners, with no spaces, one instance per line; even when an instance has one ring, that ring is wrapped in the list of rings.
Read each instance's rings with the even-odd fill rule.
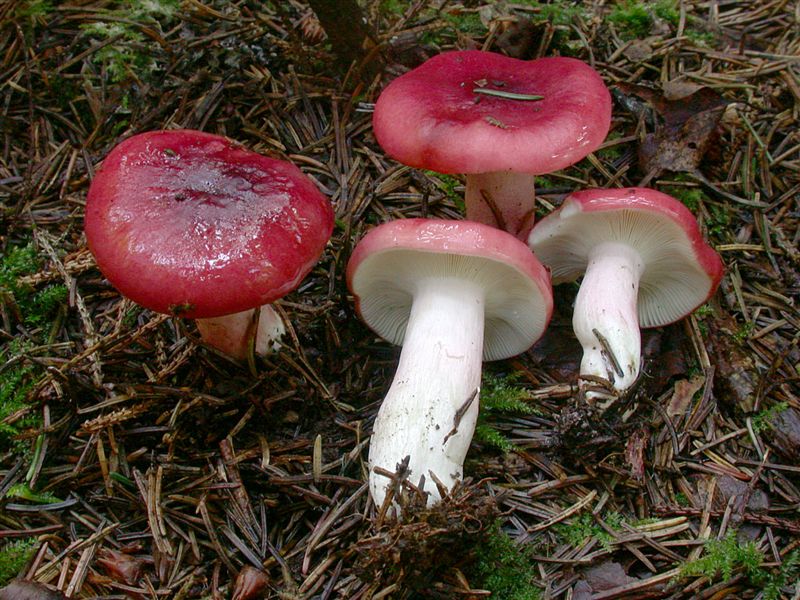
[[[475,88],[543,98],[512,100]],[[452,51],[392,81],[372,123],[383,149],[412,167],[537,175],[574,164],[603,142],[611,95],[600,75],[574,58]]]

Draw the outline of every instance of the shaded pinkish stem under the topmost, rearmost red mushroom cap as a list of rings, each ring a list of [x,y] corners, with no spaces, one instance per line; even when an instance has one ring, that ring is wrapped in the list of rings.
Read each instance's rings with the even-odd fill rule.
[[[503,229],[523,241],[528,239],[536,218],[533,175],[513,171],[467,175],[465,198],[470,221]]]

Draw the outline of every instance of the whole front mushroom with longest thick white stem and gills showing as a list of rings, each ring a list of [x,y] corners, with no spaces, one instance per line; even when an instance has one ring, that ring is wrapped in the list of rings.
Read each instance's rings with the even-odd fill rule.
[[[481,223],[407,219],[371,230],[347,265],[361,318],[403,349],[370,442],[370,490],[383,504],[408,480],[440,499],[461,478],[478,415],[481,361],[514,356],[544,332],[546,269],[512,235]]]

